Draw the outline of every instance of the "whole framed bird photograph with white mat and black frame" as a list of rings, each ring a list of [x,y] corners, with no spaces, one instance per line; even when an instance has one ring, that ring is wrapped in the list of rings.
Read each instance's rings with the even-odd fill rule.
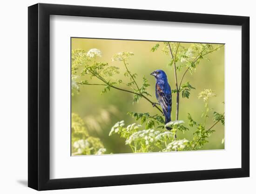
[[[28,187],[249,176],[249,17],[28,7]]]

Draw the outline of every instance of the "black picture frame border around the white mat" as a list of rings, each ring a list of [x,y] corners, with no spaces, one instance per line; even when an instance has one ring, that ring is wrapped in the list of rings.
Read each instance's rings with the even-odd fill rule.
[[[50,179],[50,15],[242,26],[242,167],[218,170]],[[236,109],[234,107],[234,109]],[[28,7],[28,187],[52,190],[249,176],[249,17],[109,7]]]

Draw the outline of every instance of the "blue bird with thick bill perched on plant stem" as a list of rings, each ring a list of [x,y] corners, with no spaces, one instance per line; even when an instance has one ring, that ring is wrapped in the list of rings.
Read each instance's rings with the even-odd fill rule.
[[[171,121],[172,90],[168,84],[167,75],[163,70],[155,70],[150,75],[155,77],[155,96],[162,107],[165,124]],[[154,105],[153,105],[154,106]],[[171,127],[166,127],[171,130]]]

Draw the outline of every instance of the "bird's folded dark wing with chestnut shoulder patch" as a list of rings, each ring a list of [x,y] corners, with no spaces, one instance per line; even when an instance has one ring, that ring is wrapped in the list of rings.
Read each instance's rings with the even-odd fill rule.
[[[161,104],[165,114],[170,114],[172,107],[171,91],[164,92],[162,84],[156,84],[157,100]]]

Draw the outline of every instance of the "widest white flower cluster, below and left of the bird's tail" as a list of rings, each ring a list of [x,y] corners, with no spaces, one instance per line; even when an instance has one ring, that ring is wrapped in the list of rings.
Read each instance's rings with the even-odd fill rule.
[[[155,137],[160,134],[160,131],[155,131],[154,129],[141,130],[132,134],[128,140],[126,140],[126,144],[131,144],[133,141],[143,140],[145,144],[148,145],[149,142],[153,142]]]

